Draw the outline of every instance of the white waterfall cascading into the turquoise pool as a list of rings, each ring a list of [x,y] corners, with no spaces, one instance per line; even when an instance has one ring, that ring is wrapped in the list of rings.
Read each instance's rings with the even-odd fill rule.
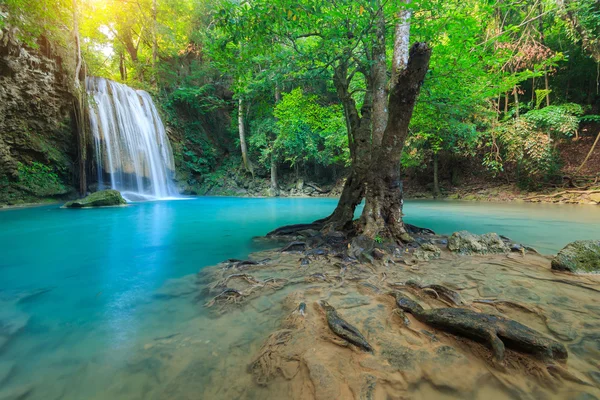
[[[86,88],[99,188],[110,183],[129,201],[177,196],[173,151],[150,95],[95,77]]]

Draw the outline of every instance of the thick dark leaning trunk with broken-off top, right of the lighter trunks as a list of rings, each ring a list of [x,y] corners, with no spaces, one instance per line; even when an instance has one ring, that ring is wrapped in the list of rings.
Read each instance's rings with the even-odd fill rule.
[[[408,65],[392,88],[388,124],[381,146],[372,155],[367,177],[366,204],[360,230],[371,238],[387,236],[401,240],[406,233],[402,221],[400,156],[408,136],[415,102],[429,67],[431,49],[425,43],[415,43],[409,54]]]

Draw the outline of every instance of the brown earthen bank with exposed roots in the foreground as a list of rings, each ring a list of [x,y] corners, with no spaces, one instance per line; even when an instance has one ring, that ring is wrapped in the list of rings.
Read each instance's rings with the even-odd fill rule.
[[[218,327],[209,356],[218,357],[216,368],[198,371],[197,355],[177,350],[194,340],[191,329],[186,332],[192,337],[149,345],[146,363],[176,351],[177,361],[170,364],[177,372],[169,374],[166,387],[177,389],[161,393],[177,398],[191,398],[186,382],[192,376],[200,380],[192,385],[201,390],[196,395],[214,399],[600,396],[600,349],[593,344],[600,325],[593,305],[600,277],[552,272],[547,257],[532,253],[460,256],[436,247],[439,259],[419,261],[414,246],[358,261],[326,244],[320,250],[295,245],[205,268],[171,282],[161,294],[187,298],[210,312],[211,326]],[[457,307],[447,296],[455,293],[452,301],[462,308],[519,321],[563,343],[568,361],[541,360],[513,351],[509,343],[504,361],[495,361],[485,345],[399,312],[390,292],[430,309]],[[332,330],[323,301],[364,336],[372,352]],[[218,338],[225,326],[237,339]]]

